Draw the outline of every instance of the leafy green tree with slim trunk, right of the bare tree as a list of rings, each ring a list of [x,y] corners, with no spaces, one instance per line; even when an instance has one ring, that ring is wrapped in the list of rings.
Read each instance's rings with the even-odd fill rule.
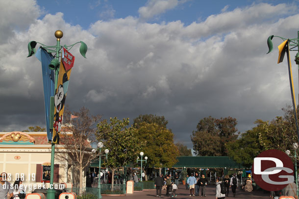
[[[97,127],[97,139],[102,140],[104,147],[109,149],[108,158],[104,163],[112,171],[112,179],[117,169],[125,167],[129,162],[136,161],[138,153],[140,153],[143,142],[136,136],[136,128],[129,125],[129,118],[123,120],[117,117],[101,121]],[[112,187],[114,180],[112,180]]]

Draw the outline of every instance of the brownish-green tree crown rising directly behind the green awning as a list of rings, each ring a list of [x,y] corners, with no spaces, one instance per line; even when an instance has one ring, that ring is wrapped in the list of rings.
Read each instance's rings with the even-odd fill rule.
[[[232,117],[216,119],[211,116],[201,119],[191,141],[196,155],[226,156],[226,143],[238,137],[237,121]]]

